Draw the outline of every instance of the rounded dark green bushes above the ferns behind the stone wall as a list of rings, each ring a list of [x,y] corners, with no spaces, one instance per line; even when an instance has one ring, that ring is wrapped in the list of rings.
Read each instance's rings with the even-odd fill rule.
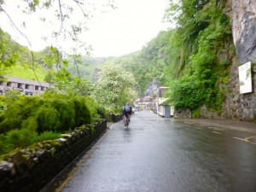
[[[96,102],[90,97],[62,95],[53,90],[46,91],[44,96],[20,96],[0,113],[0,132],[73,130],[101,118],[95,106]]]

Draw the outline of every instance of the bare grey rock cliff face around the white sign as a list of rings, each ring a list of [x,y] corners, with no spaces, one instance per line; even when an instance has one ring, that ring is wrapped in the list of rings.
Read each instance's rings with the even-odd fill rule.
[[[256,122],[256,1],[228,0],[224,12],[231,19],[237,58],[232,61],[222,116]],[[252,61],[253,92],[240,94],[238,67],[247,61]]]

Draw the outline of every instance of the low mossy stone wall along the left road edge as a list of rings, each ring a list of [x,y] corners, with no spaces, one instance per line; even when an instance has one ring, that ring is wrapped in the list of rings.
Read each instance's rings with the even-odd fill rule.
[[[0,162],[0,191],[39,191],[106,129],[107,120],[103,120],[63,134],[60,139],[16,149]]]

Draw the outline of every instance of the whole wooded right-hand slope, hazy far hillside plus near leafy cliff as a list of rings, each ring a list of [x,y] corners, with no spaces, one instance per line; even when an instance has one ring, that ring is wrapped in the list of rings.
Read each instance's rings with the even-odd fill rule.
[[[177,29],[160,32],[141,51],[108,62],[133,73],[142,95],[147,84],[157,78],[171,87],[168,96],[176,108],[196,113],[206,105],[220,113],[231,60],[236,57],[230,20],[223,12],[225,3],[183,0],[171,4],[166,15],[176,15]]]

